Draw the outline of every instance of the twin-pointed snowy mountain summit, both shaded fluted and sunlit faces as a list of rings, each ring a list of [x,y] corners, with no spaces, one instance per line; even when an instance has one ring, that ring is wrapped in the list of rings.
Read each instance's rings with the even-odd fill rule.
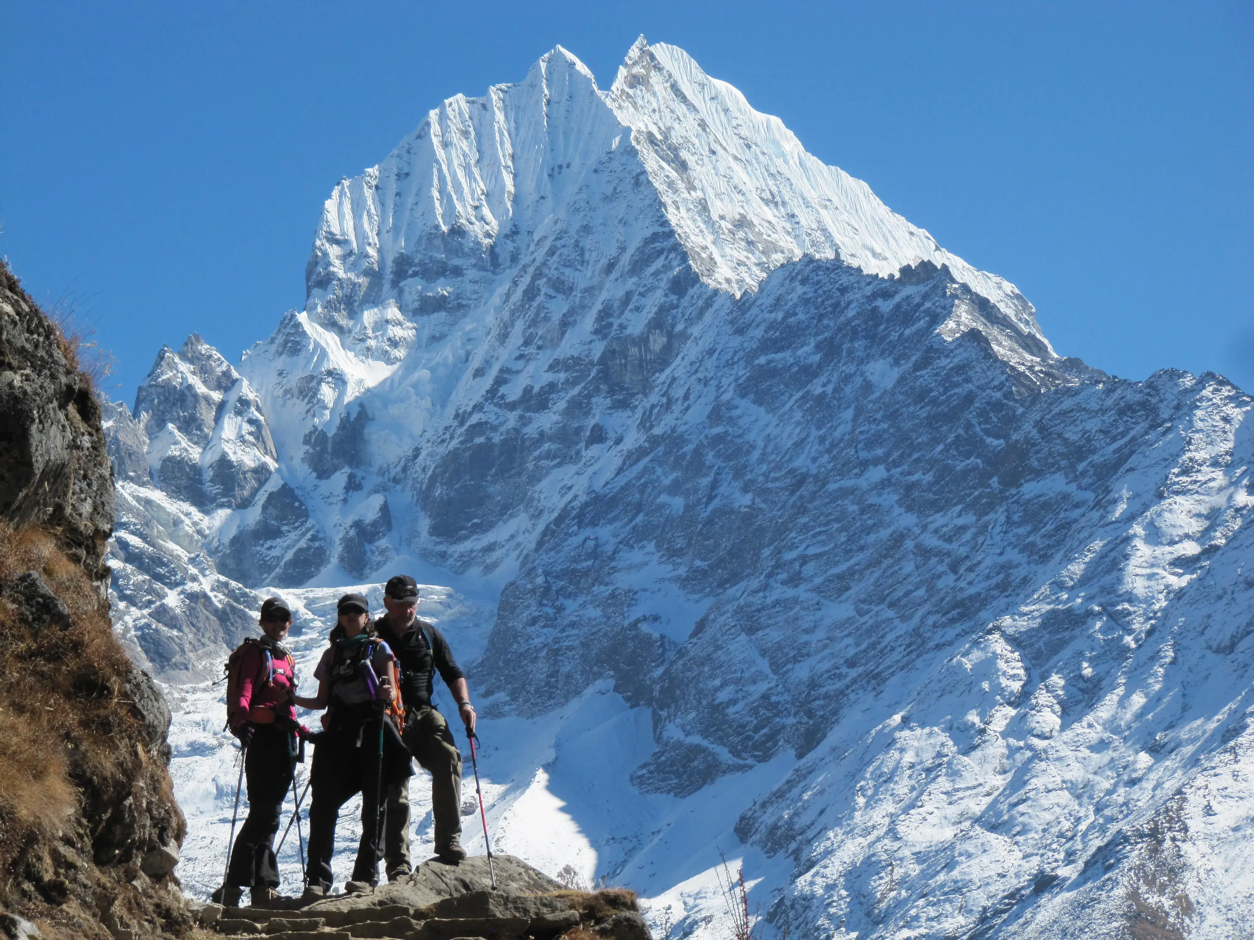
[[[607,189],[608,159],[643,168],[650,192]],[[354,356],[396,365],[482,310],[530,242],[593,194],[633,203],[628,214],[660,202],[697,276],[737,297],[806,256],[880,277],[948,266],[1053,358],[1013,285],[946,252],[683,50],[643,36],[609,91],[557,46],[517,84],[449,98],[382,163],[341,180],[306,269],[306,312]]]

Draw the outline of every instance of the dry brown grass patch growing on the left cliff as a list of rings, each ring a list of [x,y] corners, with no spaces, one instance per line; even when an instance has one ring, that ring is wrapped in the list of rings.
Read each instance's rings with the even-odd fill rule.
[[[84,802],[123,786],[138,756],[123,697],[130,663],[90,579],[51,535],[0,524],[0,583],[34,570],[70,610],[66,629],[36,630],[0,600],[0,870],[54,838]]]

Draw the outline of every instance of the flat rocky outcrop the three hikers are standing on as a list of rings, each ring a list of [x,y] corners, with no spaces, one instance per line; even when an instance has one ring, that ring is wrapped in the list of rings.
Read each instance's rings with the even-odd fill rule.
[[[623,889],[567,891],[525,862],[497,856],[497,889],[485,857],[451,867],[424,862],[409,879],[372,895],[332,896],[300,906],[199,909],[199,922],[219,935],[267,935],[273,940],[650,940]]]

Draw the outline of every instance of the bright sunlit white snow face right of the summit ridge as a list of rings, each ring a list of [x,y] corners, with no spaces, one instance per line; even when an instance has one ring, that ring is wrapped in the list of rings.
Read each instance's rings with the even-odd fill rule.
[[[867,183],[809,154],[784,122],[754,110],[682,49],[641,36],[606,99],[632,128],[650,179],[706,283],[739,296],[803,256],[840,258],[880,277],[929,261],[948,264],[1025,333],[1045,341],[1032,305],[1013,285],[940,248]]]

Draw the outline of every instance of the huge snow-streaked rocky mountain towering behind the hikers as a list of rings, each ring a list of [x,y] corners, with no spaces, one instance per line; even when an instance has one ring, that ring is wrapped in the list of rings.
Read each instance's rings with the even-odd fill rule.
[[[263,587],[420,565],[499,594],[475,688],[551,736],[498,837],[540,852],[549,792],[591,846],[549,866],[683,930],[737,840],[799,936],[1254,916],[1240,390],[1057,356],[643,41],[606,93],[557,49],[433,110],[336,187],[306,279],[237,367],[192,337],[107,416],[114,593],[167,677]]]

